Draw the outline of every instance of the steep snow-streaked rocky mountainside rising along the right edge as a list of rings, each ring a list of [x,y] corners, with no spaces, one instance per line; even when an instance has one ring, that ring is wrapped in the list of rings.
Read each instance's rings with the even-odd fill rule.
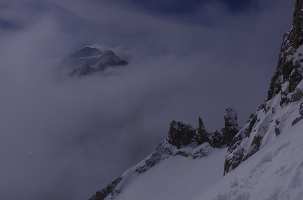
[[[297,0],[293,24],[283,36],[278,66],[268,97],[232,140],[225,160],[225,174],[303,118],[303,1]]]

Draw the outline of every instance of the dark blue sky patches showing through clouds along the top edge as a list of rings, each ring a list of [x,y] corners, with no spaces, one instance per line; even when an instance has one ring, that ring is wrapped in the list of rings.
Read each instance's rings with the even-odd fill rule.
[[[94,2],[93,0],[92,2]],[[98,1],[95,1],[98,2]],[[124,0],[120,0],[121,3],[125,3]],[[258,3],[254,0],[217,0],[217,2],[225,6],[225,11],[229,14],[238,13],[251,8],[258,8]],[[109,1],[110,4],[118,5],[118,1]],[[205,5],[214,3],[211,0],[128,0],[137,11],[141,10],[144,13],[150,15],[169,17],[172,16],[179,21],[185,21],[187,23],[199,23],[203,25],[214,25],[213,21],[209,17],[210,13],[201,13],[201,8]],[[26,5],[26,4],[25,4]],[[5,3],[0,4],[0,7],[5,8]],[[50,1],[35,0],[28,2],[25,10],[29,11],[32,15],[39,15],[50,9],[58,9],[57,5]],[[190,15],[192,18],[183,18],[183,16]],[[77,19],[79,21],[79,19]],[[16,21],[9,21],[0,16],[0,29],[6,30],[18,30],[23,27]]]

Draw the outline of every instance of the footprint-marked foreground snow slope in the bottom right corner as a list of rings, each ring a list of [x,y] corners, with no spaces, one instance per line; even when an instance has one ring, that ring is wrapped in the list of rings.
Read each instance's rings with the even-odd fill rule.
[[[222,177],[207,191],[202,189],[195,198],[188,199],[301,200],[303,198],[302,129],[303,121],[285,129],[279,137],[268,142],[254,156]],[[198,182],[198,180],[191,181]]]

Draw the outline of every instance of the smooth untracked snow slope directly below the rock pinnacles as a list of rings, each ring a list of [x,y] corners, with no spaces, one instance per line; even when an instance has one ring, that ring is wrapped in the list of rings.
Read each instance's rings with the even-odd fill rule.
[[[194,198],[202,188],[206,190],[222,178],[225,152],[226,148],[219,149],[195,160],[171,156],[142,174],[133,173],[131,168],[122,175],[125,178],[116,188],[122,192],[114,199]]]

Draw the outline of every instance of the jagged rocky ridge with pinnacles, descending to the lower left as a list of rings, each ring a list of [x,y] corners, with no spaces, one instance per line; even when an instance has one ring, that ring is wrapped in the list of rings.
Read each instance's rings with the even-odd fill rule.
[[[198,118],[198,128],[193,128],[190,124],[181,121],[171,121],[167,138],[159,144],[151,155],[118,176],[104,189],[97,191],[90,200],[100,200],[105,199],[105,197],[114,198],[123,191],[123,185],[126,184],[125,179],[135,176],[134,174],[146,173],[151,168],[160,165],[164,160],[172,159],[172,157],[203,160],[217,152],[222,154],[222,150],[226,151],[226,147],[230,143],[228,138],[232,138],[231,135],[234,136],[238,132],[237,112],[228,107],[224,120],[225,127],[221,131],[215,130],[214,132],[205,130],[201,117]]]

